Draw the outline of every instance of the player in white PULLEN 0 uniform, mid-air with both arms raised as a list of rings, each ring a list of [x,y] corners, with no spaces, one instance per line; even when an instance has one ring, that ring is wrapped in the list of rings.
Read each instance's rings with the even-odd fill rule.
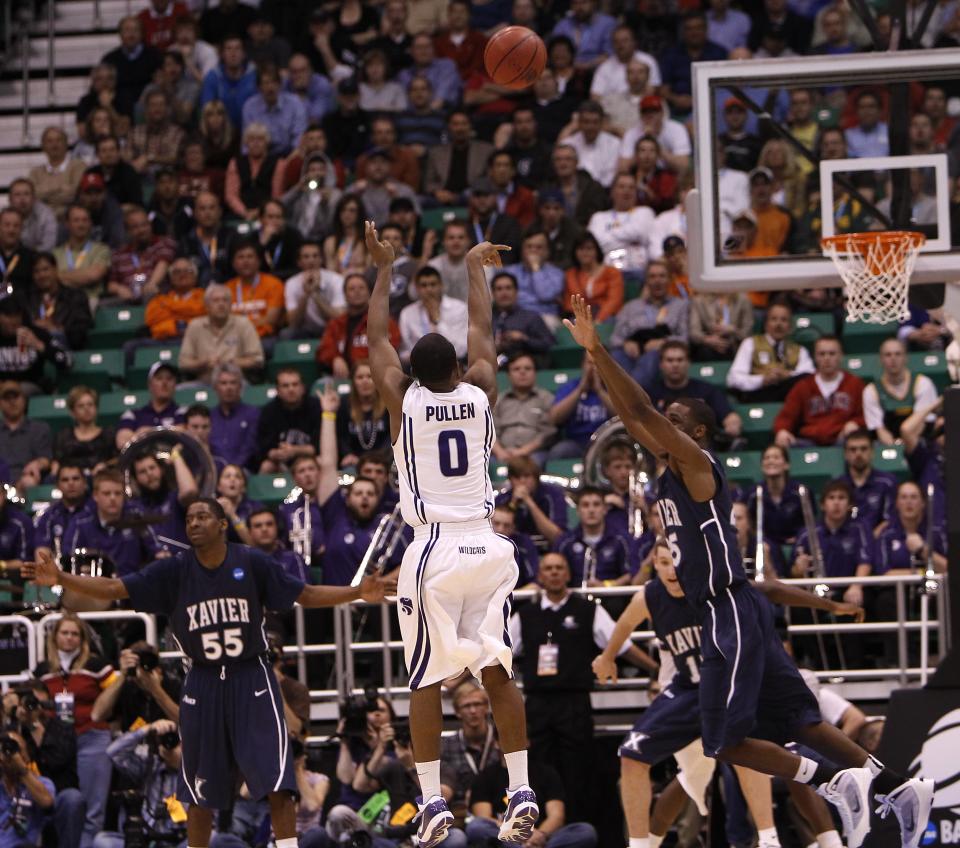
[[[393,247],[366,224],[377,282],[367,317],[370,364],[390,411],[400,472],[400,509],[414,528],[400,566],[400,632],[410,672],[410,734],[422,798],[421,848],[438,845],[453,816],[440,795],[440,684],[469,669],[482,680],[500,733],[510,785],[500,840],[526,842],[539,818],[527,779],[523,698],[513,681],[507,622],[519,568],[515,547],[493,532],[491,407],[497,399],[493,309],[484,265],[503,245],[483,242],[467,254],[467,370],[438,333],[410,352],[411,380],[387,334]]]

